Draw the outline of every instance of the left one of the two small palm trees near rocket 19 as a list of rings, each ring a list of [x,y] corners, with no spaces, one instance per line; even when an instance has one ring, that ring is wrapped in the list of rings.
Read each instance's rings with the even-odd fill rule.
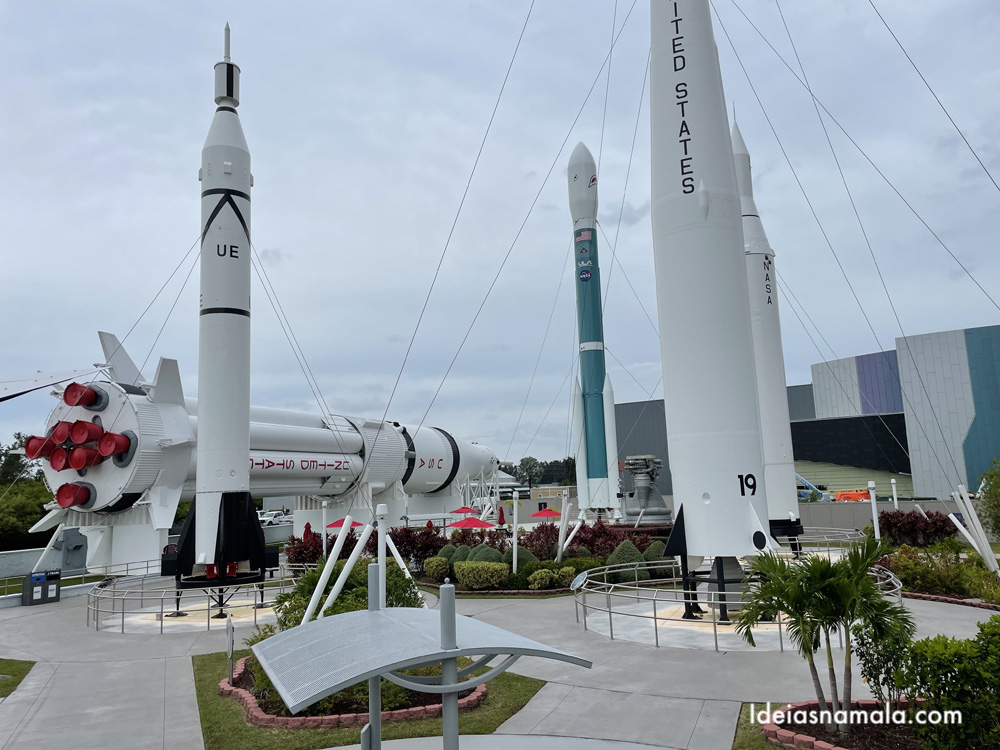
[[[773,552],[759,555],[750,564],[754,583],[743,594],[736,632],[751,646],[756,646],[753,628],[761,620],[785,616],[786,632],[792,645],[809,665],[813,688],[820,708],[828,710],[823,683],[816,669],[815,654],[820,646],[821,627],[814,617],[818,591],[813,582],[800,574],[799,566],[789,564]],[[831,731],[832,725],[827,726]]]

